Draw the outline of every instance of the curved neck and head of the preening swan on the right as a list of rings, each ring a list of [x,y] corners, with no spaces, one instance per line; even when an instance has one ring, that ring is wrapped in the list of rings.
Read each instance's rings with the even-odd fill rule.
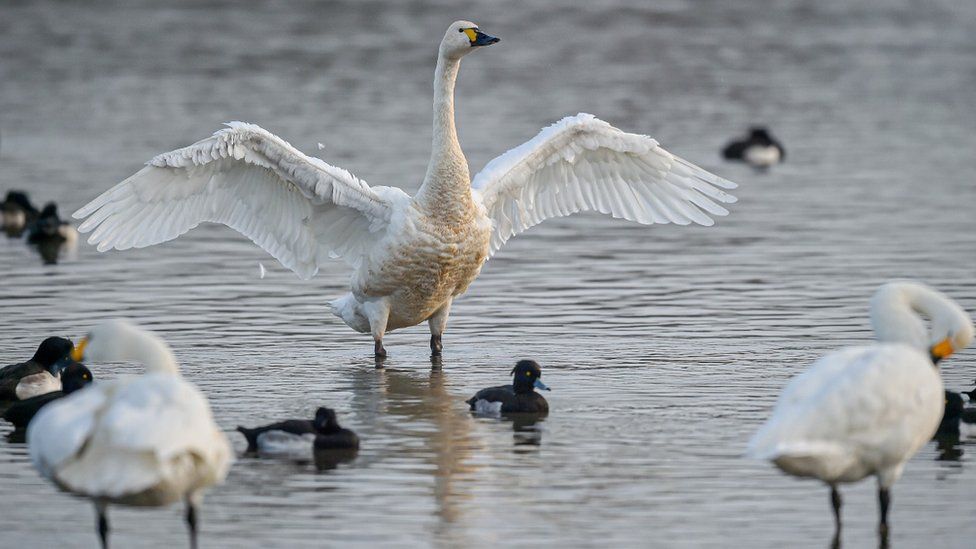
[[[926,329],[923,320],[929,320]],[[919,282],[889,282],[871,299],[871,324],[878,341],[913,345],[938,363],[973,341],[973,321],[955,301]]]

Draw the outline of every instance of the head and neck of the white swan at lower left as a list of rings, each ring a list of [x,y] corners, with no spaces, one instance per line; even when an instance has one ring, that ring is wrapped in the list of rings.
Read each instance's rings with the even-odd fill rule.
[[[159,336],[126,320],[103,322],[71,351],[77,362],[141,362],[150,371],[177,372],[173,354]]]

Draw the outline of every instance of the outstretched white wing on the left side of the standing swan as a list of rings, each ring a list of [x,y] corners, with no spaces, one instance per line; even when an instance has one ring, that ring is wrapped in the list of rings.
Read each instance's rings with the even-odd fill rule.
[[[357,265],[389,222],[397,190],[371,189],[259,126],[227,126],[153,158],[75,212],[88,218],[79,229],[94,231],[88,242],[99,251],[142,248],[210,221],[244,234],[302,278],[329,256]]]

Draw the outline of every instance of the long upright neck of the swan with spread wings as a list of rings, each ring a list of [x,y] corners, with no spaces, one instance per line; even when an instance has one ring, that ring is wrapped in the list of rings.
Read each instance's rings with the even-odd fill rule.
[[[429,214],[450,221],[471,203],[471,175],[454,125],[454,84],[459,59],[437,56],[434,72],[434,140],[417,202]]]

